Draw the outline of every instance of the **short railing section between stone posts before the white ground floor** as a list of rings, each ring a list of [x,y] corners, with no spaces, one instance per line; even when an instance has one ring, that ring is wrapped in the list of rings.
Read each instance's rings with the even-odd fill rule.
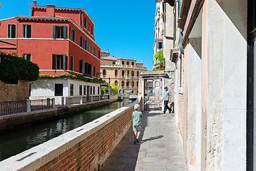
[[[53,99],[30,100],[31,111],[53,108]]]

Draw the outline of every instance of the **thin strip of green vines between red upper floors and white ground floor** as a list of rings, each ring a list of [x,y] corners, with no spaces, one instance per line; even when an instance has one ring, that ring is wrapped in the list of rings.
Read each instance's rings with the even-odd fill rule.
[[[104,81],[100,78],[84,78],[83,76],[80,75],[76,75],[75,73],[63,73],[63,74],[59,74],[57,76],[50,76],[48,74],[39,74],[39,78],[73,78],[73,79],[77,79],[77,80],[81,80],[81,81],[86,81],[86,82],[91,82],[91,83],[103,83]]]

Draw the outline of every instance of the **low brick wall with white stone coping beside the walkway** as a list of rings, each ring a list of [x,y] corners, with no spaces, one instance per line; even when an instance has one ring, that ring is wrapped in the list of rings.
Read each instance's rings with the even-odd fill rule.
[[[141,104],[141,100],[139,103]],[[134,105],[135,103],[120,108],[4,160],[0,167],[8,170],[8,163],[12,163],[15,170],[100,170],[123,135],[130,129]],[[24,156],[28,157],[19,162]]]

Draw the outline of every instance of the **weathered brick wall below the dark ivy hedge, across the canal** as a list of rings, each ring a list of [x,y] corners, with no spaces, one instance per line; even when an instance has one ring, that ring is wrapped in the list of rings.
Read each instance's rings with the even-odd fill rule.
[[[29,81],[19,80],[18,84],[6,84],[0,81],[0,101],[29,99]]]

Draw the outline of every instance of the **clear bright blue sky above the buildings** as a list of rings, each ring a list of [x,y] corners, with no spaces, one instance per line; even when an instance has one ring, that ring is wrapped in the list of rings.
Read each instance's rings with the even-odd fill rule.
[[[0,19],[30,16],[32,0],[0,0]],[[101,51],[111,56],[135,58],[152,70],[155,0],[37,0],[37,5],[54,4],[58,7],[83,8],[95,26],[95,39]]]

